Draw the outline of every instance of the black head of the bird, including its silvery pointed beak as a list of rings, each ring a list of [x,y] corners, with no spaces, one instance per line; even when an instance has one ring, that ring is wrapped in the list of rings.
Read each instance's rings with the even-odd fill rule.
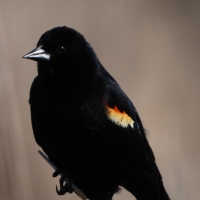
[[[83,35],[65,26],[45,32],[36,48],[23,58],[37,61],[38,73],[52,77],[82,76],[98,63]]]

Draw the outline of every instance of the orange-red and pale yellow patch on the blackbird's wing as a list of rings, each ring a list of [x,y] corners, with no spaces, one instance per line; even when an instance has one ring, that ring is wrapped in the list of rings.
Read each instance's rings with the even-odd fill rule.
[[[112,122],[124,128],[127,128],[128,126],[133,128],[134,121],[128,116],[128,114],[126,114],[125,111],[121,112],[116,105],[114,108],[110,108],[108,105],[106,105],[106,108],[108,110],[108,118]]]

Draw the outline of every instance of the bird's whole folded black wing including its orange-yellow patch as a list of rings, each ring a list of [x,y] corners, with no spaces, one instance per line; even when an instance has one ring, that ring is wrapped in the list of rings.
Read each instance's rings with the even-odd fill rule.
[[[165,195],[162,177],[137,110],[115,81],[100,79],[108,119],[102,134],[126,177],[122,186],[138,199],[158,199]]]

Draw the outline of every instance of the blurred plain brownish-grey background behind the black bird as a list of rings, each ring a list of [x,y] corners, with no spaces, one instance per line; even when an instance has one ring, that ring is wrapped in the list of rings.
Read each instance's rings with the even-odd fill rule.
[[[58,178],[37,153],[36,63],[21,58],[63,25],[86,37],[137,107],[171,199],[200,199],[200,1],[1,0],[0,200],[79,199],[57,196]]]

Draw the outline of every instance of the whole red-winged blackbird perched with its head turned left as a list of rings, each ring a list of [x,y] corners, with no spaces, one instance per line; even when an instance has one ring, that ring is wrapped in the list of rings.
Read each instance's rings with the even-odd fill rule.
[[[169,199],[137,110],[83,35],[54,28],[24,58],[38,63],[36,142],[64,176],[90,200],[111,199],[119,186],[138,200]],[[61,180],[57,192],[67,191]]]

